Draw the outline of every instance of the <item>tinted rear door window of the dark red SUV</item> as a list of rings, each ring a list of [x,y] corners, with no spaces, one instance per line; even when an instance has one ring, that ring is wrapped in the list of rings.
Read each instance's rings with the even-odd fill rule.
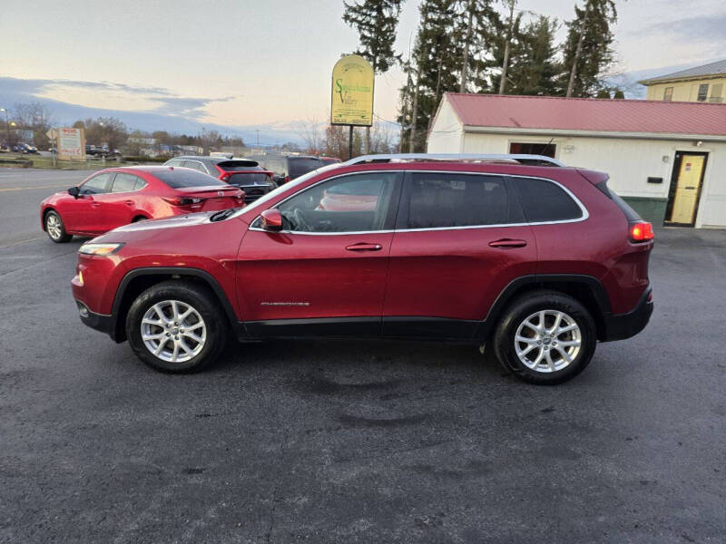
[[[474,227],[524,222],[495,176],[412,174],[407,228]]]

